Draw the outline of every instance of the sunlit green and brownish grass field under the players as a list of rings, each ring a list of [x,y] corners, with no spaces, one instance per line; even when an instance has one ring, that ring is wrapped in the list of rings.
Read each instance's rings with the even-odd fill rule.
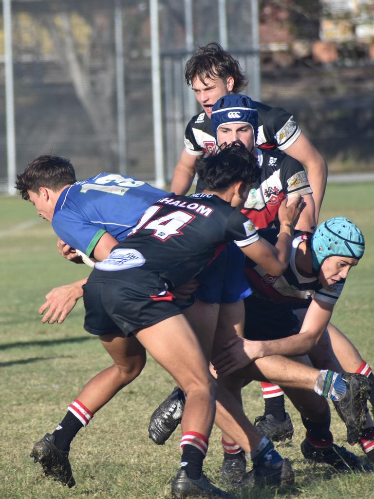
[[[321,220],[352,218],[366,237],[366,254],[350,277],[336,306],[333,322],[349,336],[374,366],[374,184],[328,185]],[[82,278],[85,265],[63,260],[47,222],[19,197],[0,198],[0,498],[139,499],[170,497],[170,481],[179,464],[179,432],[163,447],[148,438],[154,408],[171,391],[173,381],[151,358],[142,375],[104,407],[74,439],[70,462],[77,485],[71,490],[46,480],[28,457],[32,445],[51,432],[83,384],[110,365],[100,342],[83,330],[78,303],[60,325],[44,325],[37,310],[54,286]],[[262,413],[260,387],[243,391],[250,419]],[[279,446],[295,469],[289,490],[254,489],[237,498],[369,499],[374,474],[339,474],[327,465],[303,459],[304,428],[288,403],[295,435]],[[335,441],[344,445],[346,430],[332,415]],[[350,447],[350,446],[348,446]],[[362,455],[356,445],[350,448]],[[213,429],[205,472],[219,485],[220,435]]]

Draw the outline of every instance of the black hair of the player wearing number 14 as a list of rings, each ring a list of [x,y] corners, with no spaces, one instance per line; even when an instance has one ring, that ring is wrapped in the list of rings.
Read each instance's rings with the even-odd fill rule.
[[[239,181],[252,184],[261,175],[257,159],[240,141],[197,161],[196,172],[208,191],[225,191]]]

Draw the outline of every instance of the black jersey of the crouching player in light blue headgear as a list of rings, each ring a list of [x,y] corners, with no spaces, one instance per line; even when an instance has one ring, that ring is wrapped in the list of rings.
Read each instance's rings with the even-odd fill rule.
[[[311,299],[317,298],[318,300],[335,305],[346,280],[342,279],[327,289],[322,286],[317,277],[305,277],[301,275],[295,265],[295,254],[298,246],[303,241],[307,241],[311,237],[311,234],[297,232],[298,234],[295,235],[292,242],[290,263],[283,275],[274,277],[247,258],[245,273],[251,284],[252,292],[256,296],[272,302],[304,302],[307,305]],[[267,229],[260,231],[260,234],[269,243],[275,245],[278,234],[277,230]]]

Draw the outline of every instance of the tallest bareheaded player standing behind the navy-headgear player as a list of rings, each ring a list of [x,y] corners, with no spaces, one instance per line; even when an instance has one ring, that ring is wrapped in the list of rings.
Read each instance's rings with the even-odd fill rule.
[[[240,93],[247,84],[238,61],[218,43],[200,47],[188,59],[185,77],[203,110],[191,118],[186,128],[185,149],[172,180],[171,190],[176,194],[186,194],[190,188],[196,159],[215,151],[215,137],[210,121],[213,105],[219,97]],[[301,131],[291,113],[261,102],[255,102],[255,105],[259,112],[257,145],[267,150],[281,150],[306,168],[318,220],[326,188],[325,160]]]

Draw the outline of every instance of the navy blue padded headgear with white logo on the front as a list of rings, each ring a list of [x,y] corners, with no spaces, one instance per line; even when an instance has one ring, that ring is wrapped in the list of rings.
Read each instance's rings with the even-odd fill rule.
[[[253,100],[247,95],[229,94],[217,100],[210,116],[215,141],[217,129],[227,123],[248,123],[253,129],[254,142],[258,133],[258,111]]]

